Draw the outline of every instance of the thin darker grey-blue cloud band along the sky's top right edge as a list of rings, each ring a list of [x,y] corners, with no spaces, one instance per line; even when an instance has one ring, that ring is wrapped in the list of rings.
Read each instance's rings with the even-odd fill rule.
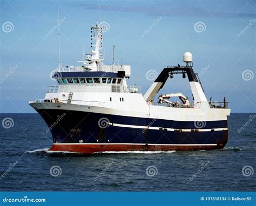
[[[86,2],[80,3],[77,8],[82,8],[83,10],[99,10],[102,11],[110,11],[112,13],[119,12],[130,12],[130,13],[138,13],[145,16],[173,16],[173,17],[185,17],[187,15],[191,17],[218,17],[218,18],[235,18],[235,17],[248,17],[248,18],[256,18],[255,13],[242,13],[235,12],[234,10],[238,10],[239,4],[234,5],[232,8],[229,6],[232,2],[226,3],[221,8],[225,8],[227,6],[228,11],[223,12],[218,10],[220,7],[220,2],[196,2],[196,3],[188,3],[188,2],[147,2],[147,1],[139,1],[139,2],[117,2],[117,1],[108,1],[108,2]],[[212,5],[214,4],[215,5]],[[122,4],[122,5],[121,5]],[[246,4],[246,2],[245,2]],[[71,6],[75,6],[75,4],[70,3]],[[217,8],[215,10],[208,10],[206,8]],[[235,9],[236,8],[236,9]],[[216,11],[217,10],[217,11]],[[232,11],[233,10],[233,11]],[[240,9],[239,9],[240,10]],[[239,11],[238,10],[238,11]]]

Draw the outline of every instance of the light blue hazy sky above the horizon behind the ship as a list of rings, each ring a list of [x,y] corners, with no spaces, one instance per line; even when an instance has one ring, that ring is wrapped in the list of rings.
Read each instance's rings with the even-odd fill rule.
[[[43,99],[56,84],[50,72],[58,66],[58,5],[63,66],[79,65],[83,46],[90,52],[90,26],[99,19],[100,5],[101,20],[110,25],[104,63],[111,63],[116,45],[116,63],[123,59],[132,68],[129,85],[145,93],[153,82],[149,72],[182,65],[183,53],[190,51],[207,99],[226,96],[232,112],[256,112],[255,1],[199,0],[1,1],[1,113],[34,112],[28,101]],[[177,76],[159,94],[191,97],[188,86]]]

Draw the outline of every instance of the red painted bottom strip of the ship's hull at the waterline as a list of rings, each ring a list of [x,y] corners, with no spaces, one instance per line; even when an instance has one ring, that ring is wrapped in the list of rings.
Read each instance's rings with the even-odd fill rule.
[[[225,144],[220,145],[73,145],[73,144],[55,144],[51,147],[52,151],[60,152],[76,152],[76,153],[96,153],[96,152],[129,152],[129,151],[197,151],[197,150],[212,150],[221,149]]]

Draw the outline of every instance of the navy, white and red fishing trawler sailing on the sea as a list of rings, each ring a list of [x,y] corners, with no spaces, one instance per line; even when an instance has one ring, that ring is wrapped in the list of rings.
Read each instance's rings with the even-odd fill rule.
[[[86,61],[65,68],[59,63],[53,74],[57,85],[49,87],[44,99],[29,101],[49,127],[50,150],[211,150],[226,145],[228,102],[207,101],[190,52],[183,55],[185,66],[164,68],[143,95],[140,86],[127,86],[129,65],[103,63],[98,22],[91,27],[91,39],[95,44]],[[178,74],[187,77],[193,102],[182,93],[160,94],[154,102],[167,79]]]

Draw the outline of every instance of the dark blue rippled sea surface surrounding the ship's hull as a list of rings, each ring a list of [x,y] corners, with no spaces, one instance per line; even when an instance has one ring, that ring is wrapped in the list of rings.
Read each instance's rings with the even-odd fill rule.
[[[90,155],[48,151],[52,137],[38,114],[0,114],[0,119],[1,191],[256,189],[255,113],[231,114],[221,150]]]

